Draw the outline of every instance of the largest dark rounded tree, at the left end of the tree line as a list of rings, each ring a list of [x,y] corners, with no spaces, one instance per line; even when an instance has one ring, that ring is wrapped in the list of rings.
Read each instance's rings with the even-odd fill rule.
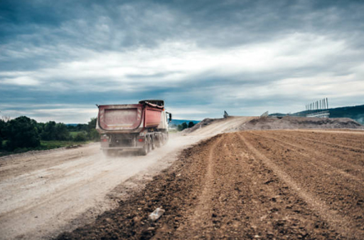
[[[6,148],[15,150],[22,147],[38,147],[41,145],[36,121],[25,116],[10,120],[5,128]]]

